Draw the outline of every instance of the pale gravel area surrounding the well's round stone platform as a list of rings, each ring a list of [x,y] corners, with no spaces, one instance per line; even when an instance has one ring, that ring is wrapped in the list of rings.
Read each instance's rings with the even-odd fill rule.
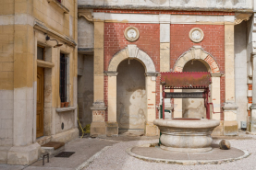
[[[126,149],[141,145],[145,143],[158,142],[158,140],[152,141],[133,141],[133,142],[119,142],[110,147],[104,153],[101,153],[94,161],[84,169],[93,170],[166,170],[166,169],[256,169],[256,136],[248,135],[253,140],[229,140],[231,147],[236,147],[240,150],[245,150],[251,153],[248,158],[238,160],[232,163],[226,164],[200,164],[200,165],[179,165],[179,164],[164,164],[164,163],[150,163],[140,159],[129,156],[126,153]],[[220,140],[213,141],[213,143],[219,143]]]

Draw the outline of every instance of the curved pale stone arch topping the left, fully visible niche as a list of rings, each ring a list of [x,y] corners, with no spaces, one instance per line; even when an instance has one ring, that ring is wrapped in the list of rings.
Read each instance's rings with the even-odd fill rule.
[[[109,63],[108,72],[116,72],[119,63],[126,59],[138,60],[143,64],[146,73],[155,73],[152,58],[146,52],[141,51],[137,45],[128,45],[124,50],[117,52]]]

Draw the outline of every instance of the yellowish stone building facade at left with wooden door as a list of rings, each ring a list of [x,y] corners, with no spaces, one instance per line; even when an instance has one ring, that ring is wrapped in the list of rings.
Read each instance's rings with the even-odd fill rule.
[[[39,143],[69,142],[79,134],[77,1],[11,0],[0,5],[0,164],[31,164],[39,158]],[[54,41],[46,40],[47,35]],[[55,40],[63,45],[55,48]],[[43,60],[37,60],[38,45],[44,48]],[[60,108],[60,52],[68,58],[68,108]],[[44,69],[42,138],[36,137],[37,67]]]

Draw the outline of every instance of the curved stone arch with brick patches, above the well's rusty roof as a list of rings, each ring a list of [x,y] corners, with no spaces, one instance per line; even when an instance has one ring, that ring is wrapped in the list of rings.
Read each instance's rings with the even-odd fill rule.
[[[220,74],[219,65],[216,62],[216,60],[213,58],[213,56],[201,49],[201,46],[194,46],[189,51],[184,52],[175,63],[174,71],[175,72],[182,72],[183,67],[187,62],[190,60],[200,60],[204,64],[206,64],[207,67],[209,67],[209,71],[211,74]]]

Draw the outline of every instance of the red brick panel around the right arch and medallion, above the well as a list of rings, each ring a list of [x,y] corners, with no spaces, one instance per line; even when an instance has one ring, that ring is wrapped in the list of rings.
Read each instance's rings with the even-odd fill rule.
[[[200,43],[194,43],[189,39],[191,28],[201,28],[204,39]],[[171,68],[174,68],[178,57],[194,45],[200,45],[204,51],[211,53],[218,63],[221,73],[225,73],[225,28],[223,25],[171,25]],[[221,103],[225,102],[225,77],[222,76]]]

